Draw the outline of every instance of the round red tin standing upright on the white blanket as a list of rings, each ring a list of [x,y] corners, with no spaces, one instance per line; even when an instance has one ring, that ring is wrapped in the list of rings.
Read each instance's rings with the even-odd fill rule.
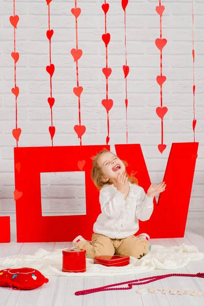
[[[62,254],[62,272],[86,272],[86,250],[65,249]]]

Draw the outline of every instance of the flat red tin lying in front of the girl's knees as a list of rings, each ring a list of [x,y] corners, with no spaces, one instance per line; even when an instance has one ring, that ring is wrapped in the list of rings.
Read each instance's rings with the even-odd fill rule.
[[[100,264],[107,267],[123,267],[130,264],[130,256],[124,255],[102,255],[96,256],[93,259],[94,264]]]

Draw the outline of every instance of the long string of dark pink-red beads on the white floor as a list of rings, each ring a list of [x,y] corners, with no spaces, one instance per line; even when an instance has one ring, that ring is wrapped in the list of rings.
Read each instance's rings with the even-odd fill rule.
[[[95,292],[100,292],[100,291],[110,291],[110,290],[130,290],[133,288],[134,285],[145,285],[151,282],[159,281],[159,279],[163,279],[166,277],[170,276],[187,276],[187,277],[201,277],[204,278],[204,273],[197,273],[197,274],[165,274],[165,275],[156,275],[156,276],[150,276],[150,277],[145,277],[141,279],[135,279],[134,281],[127,281],[124,283],[118,283],[118,284],[113,284],[113,285],[107,285],[104,287],[98,287],[98,288],[93,288],[93,289],[87,289],[87,290],[82,290],[82,291],[76,291],[75,295],[85,295],[85,294],[90,294],[90,293],[95,293]],[[146,282],[144,282],[146,281]],[[122,287],[122,288],[111,288],[115,286],[121,286],[127,284],[128,287]]]

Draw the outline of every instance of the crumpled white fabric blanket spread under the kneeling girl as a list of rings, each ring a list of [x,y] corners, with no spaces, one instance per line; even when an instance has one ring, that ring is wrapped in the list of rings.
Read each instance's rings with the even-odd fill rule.
[[[62,272],[62,250],[48,252],[38,249],[33,255],[17,255],[0,259],[4,268],[29,267],[39,270],[43,275],[56,276],[113,276],[150,272],[154,269],[168,270],[186,267],[189,263],[204,259],[204,253],[199,252],[194,245],[164,247],[152,245],[151,251],[140,260],[131,257],[131,263],[124,267],[106,267],[93,264],[92,259],[86,259],[87,271],[84,273]]]

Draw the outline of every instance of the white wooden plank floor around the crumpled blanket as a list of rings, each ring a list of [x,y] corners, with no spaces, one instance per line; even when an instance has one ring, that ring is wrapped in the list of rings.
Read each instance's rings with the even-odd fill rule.
[[[176,226],[173,224],[172,226]],[[50,243],[16,243],[15,230],[12,231],[11,243],[0,244],[0,258],[15,254],[33,254],[38,248],[49,251],[72,247],[69,242]],[[180,239],[151,239],[151,244],[164,246],[195,245],[204,252],[204,219],[189,219],[184,238]],[[1,267],[0,267],[1,269]],[[201,297],[190,295],[170,295],[158,292],[140,295],[136,289],[164,288],[177,290],[204,291],[203,278],[169,277],[151,284],[134,286],[132,290],[98,292],[85,296],[75,296],[74,292],[108,284],[120,283],[131,279],[168,273],[197,273],[204,272],[204,260],[189,264],[186,268],[176,270],[154,270],[150,273],[113,277],[57,277],[48,276],[49,283],[31,291],[18,291],[10,288],[0,288],[1,306],[203,306],[204,295]]]

